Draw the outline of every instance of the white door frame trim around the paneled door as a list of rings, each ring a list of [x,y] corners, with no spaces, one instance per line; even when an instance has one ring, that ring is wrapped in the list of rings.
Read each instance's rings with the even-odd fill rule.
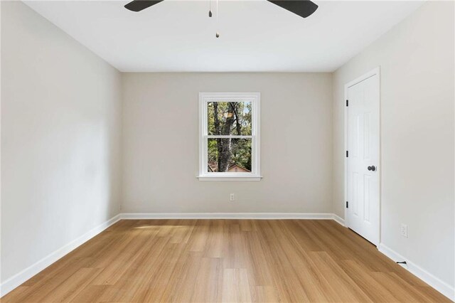
[[[368,78],[373,77],[374,75],[378,75],[378,93],[379,93],[379,163],[378,166],[380,169],[378,170],[379,177],[378,177],[378,186],[379,186],[379,226],[378,226],[378,247],[379,243],[381,243],[381,179],[382,179],[382,145],[381,145],[381,81],[380,81],[380,67],[378,66],[377,68],[374,68],[373,70],[370,70],[368,73],[365,73],[364,75],[361,75],[359,78],[356,78],[355,80],[350,81],[349,83],[346,83],[344,85],[344,100],[343,100],[343,107],[344,107],[344,219],[345,219],[345,225],[346,227],[349,226],[349,217],[348,217],[348,208],[346,208],[346,201],[348,201],[348,157],[346,156],[346,151],[348,150],[348,107],[346,106],[346,100],[348,100],[348,88],[356,85],[363,80],[366,80]]]

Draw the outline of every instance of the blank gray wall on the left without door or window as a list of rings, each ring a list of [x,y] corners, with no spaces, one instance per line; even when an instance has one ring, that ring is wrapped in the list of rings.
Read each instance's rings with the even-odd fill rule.
[[[1,1],[1,280],[119,213],[121,75]]]

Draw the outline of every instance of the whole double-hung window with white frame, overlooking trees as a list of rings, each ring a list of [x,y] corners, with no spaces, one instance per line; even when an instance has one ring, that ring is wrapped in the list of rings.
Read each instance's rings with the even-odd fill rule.
[[[259,92],[200,92],[199,180],[259,181]]]

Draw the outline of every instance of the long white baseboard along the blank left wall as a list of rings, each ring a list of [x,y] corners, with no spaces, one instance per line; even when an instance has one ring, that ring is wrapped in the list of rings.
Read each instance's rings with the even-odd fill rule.
[[[18,272],[13,277],[10,277],[5,282],[1,283],[0,285],[0,297],[3,297],[5,294],[11,292],[11,290],[15,289],[26,280],[30,279],[34,275],[44,270],[45,267],[52,265],[54,262],[58,261],[61,257],[67,255],[69,252],[77,248],[78,246],[84,244],[91,238],[95,237],[95,235],[101,233],[103,230],[108,228],[110,225],[117,223],[120,220],[120,216],[114,216],[113,218],[107,220],[105,223],[98,225],[97,227],[93,228],[92,230],[88,231],[84,235],[81,235],[79,238],[71,241],[70,243],[64,245],[62,248],[55,250],[54,252],[50,253],[50,255],[43,257],[43,259],[39,260],[35,264],[27,267],[25,270]]]

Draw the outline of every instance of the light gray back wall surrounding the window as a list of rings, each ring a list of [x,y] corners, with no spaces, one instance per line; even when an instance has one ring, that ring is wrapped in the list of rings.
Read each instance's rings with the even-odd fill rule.
[[[261,92],[262,181],[196,179],[198,92]],[[123,93],[122,211],[331,212],[331,74],[127,73]]]

